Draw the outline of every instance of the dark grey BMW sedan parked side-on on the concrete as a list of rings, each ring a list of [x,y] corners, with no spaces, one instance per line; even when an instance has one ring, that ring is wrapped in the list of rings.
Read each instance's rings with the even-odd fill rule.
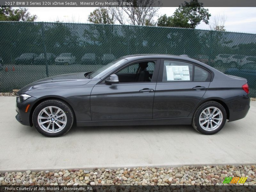
[[[250,108],[247,80],[186,55],[128,55],[94,72],[53,76],[23,87],[16,119],[48,137],[76,126],[191,124],[203,134]]]

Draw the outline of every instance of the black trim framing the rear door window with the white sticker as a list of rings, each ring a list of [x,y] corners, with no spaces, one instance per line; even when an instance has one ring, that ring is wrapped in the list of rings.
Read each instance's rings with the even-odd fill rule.
[[[164,60],[170,60],[170,61],[180,61],[180,62],[184,62],[184,63],[189,63],[189,64],[192,64],[192,80],[191,81],[163,81],[163,74],[164,74]],[[188,60],[182,60],[182,59],[167,59],[167,58],[164,58],[164,59],[161,59],[160,61],[160,67],[159,67],[159,74],[158,74],[158,78],[157,78],[157,82],[160,83],[176,83],[176,82],[202,82],[202,81],[194,81],[194,76],[195,76],[195,65],[200,67],[200,68],[203,68],[205,69],[206,71],[208,71],[211,75],[211,78],[209,81],[203,81],[203,82],[212,82],[213,80],[213,76],[214,76],[214,73],[208,69],[208,68],[205,68],[204,66],[198,64],[198,63],[194,63],[192,61],[188,61]]]

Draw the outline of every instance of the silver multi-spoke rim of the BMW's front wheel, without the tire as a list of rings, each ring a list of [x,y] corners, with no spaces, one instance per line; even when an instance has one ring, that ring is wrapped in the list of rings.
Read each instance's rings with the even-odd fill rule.
[[[39,112],[37,122],[43,131],[57,133],[65,128],[67,116],[61,108],[49,106]]]

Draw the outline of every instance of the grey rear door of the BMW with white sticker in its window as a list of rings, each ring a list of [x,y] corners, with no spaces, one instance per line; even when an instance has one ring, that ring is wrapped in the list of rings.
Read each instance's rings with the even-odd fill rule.
[[[192,63],[161,60],[153,119],[188,117],[210,85],[211,73]]]

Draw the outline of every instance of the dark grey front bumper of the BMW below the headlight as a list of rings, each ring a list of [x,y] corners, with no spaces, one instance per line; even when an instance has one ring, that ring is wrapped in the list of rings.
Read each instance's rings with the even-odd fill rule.
[[[38,99],[36,99],[35,97],[30,97],[29,99],[23,101],[22,103],[17,102],[17,99],[16,99],[16,112],[17,112],[17,115],[15,116],[16,120],[23,125],[32,126],[30,113],[37,101]],[[28,107],[28,105],[30,106]],[[28,111],[26,112],[27,107],[28,107]]]

